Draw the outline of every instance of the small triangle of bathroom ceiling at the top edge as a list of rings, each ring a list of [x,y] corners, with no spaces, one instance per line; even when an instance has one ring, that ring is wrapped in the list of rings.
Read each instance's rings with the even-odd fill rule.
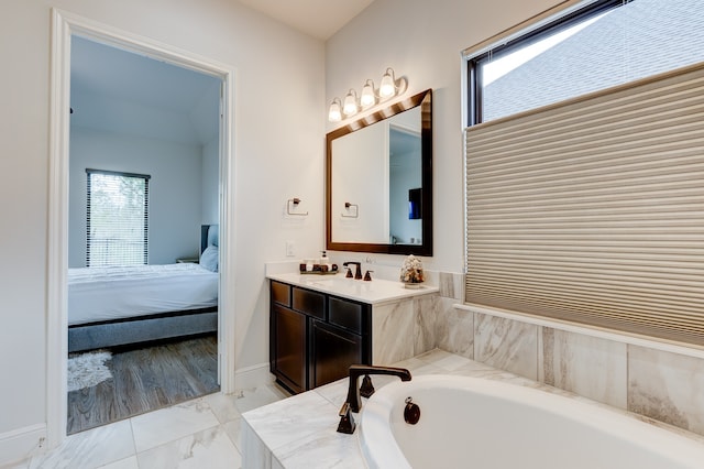
[[[374,0],[238,0],[282,23],[327,41]]]

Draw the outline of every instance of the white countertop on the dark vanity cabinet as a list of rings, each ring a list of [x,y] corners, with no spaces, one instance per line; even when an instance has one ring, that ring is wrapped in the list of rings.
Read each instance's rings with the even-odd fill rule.
[[[365,282],[363,280],[346,279],[342,272],[334,275],[271,273],[266,277],[373,305],[440,291],[437,286],[425,283],[420,284],[417,290],[411,290],[406,288],[403,282],[392,282],[383,279],[373,279],[370,282]]]

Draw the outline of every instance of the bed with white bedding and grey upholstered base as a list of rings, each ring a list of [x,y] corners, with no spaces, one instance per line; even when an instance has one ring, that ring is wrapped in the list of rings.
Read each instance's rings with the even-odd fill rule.
[[[68,270],[68,351],[218,330],[217,225],[201,227],[200,260]]]

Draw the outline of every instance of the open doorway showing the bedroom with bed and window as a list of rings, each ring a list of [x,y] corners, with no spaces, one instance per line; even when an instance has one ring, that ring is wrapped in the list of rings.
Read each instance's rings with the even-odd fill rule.
[[[69,435],[219,391],[221,84],[72,36]]]

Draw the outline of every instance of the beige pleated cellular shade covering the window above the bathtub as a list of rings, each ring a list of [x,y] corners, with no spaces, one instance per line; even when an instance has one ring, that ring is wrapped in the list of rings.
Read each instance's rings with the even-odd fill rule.
[[[465,302],[704,346],[704,64],[466,130]]]

